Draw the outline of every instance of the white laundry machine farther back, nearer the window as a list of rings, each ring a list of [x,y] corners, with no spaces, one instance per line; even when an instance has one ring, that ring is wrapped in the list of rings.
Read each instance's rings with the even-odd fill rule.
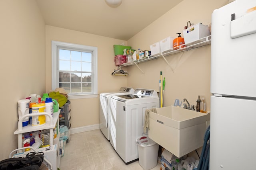
[[[132,94],[133,88],[121,87],[118,92],[100,94],[100,130],[109,140],[110,136],[110,98],[114,95]]]

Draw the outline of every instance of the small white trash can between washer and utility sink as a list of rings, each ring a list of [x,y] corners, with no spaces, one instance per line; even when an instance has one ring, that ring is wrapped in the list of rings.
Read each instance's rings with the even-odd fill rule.
[[[157,164],[159,145],[148,135],[136,139],[138,145],[139,163],[144,170],[150,170]]]

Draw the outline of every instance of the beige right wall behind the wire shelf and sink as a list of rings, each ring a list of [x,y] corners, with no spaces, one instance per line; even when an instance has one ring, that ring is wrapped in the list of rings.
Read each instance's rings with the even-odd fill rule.
[[[150,50],[150,45],[161,39],[168,36],[178,37],[176,33],[182,33],[188,21],[209,25],[213,10],[227,2],[228,0],[184,0],[129,39],[128,45],[134,49]],[[190,104],[196,105],[198,95],[203,95],[206,96],[210,111],[210,56],[211,46],[208,45],[166,57],[172,68],[162,57],[138,64],[144,74],[136,66],[129,66],[128,86],[159,91],[162,70],[162,77],[166,80],[164,106],[172,105],[176,98],[186,98]]]

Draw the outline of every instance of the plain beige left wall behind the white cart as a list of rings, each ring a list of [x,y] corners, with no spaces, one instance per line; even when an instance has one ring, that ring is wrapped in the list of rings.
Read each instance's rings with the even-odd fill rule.
[[[34,0],[0,1],[0,160],[17,148],[17,101],[45,90],[45,24]]]

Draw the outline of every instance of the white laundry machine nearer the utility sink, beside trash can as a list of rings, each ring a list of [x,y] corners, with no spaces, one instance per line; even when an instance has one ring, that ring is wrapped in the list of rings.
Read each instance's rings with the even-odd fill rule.
[[[157,92],[135,89],[134,94],[110,100],[110,143],[125,163],[138,159],[136,139],[144,134],[146,109],[159,107]]]

